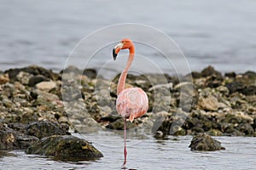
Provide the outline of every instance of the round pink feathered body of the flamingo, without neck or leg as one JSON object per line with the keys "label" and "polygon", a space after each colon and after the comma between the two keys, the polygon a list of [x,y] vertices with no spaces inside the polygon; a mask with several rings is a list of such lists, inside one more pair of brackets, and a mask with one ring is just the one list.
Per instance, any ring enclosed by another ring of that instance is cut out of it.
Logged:
{"label": "round pink feathered body of the flamingo, without neck or leg", "polygon": [[148,96],[142,88],[125,88],[118,96],[116,109],[121,116],[134,118],[148,111]]}

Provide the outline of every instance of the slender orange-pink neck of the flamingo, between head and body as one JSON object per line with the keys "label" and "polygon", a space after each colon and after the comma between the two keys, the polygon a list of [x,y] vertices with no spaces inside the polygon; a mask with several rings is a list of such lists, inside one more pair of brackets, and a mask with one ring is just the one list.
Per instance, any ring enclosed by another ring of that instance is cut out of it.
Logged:
{"label": "slender orange-pink neck of the flamingo, between head and body", "polygon": [[118,87],[117,87],[117,94],[119,95],[119,93],[125,89],[125,80],[129,71],[129,68],[131,66],[132,60],[134,58],[134,53],[135,53],[135,48],[134,45],[131,45],[131,48],[129,48],[130,50],[130,54],[129,54],[129,59],[125,65],[125,70],[122,71],[121,76],[119,77],[119,83],[118,83]]}

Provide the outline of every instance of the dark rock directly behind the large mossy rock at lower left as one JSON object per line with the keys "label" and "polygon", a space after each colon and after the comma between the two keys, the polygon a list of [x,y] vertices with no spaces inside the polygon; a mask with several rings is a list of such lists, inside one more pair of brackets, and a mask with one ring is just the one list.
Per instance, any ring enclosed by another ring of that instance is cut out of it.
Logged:
{"label": "dark rock directly behind the large mossy rock at lower left", "polygon": [[70,134],[67,129],[61,127],[56,122],[32,122],[26,126],[26,133],[28,135],[36,136],[38,139],[42,139],[51,135],[64,135]]}

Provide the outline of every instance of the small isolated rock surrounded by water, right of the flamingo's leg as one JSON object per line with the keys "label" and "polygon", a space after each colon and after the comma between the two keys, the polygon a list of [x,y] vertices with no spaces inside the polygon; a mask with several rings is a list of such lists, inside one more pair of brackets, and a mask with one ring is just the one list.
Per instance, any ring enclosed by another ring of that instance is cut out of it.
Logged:
{"label": "small isolated rock surrounded by water, right of the flamingo's leg", "polygon": [[220,142],[208,134],[198,134],[196,135],[189,145],[191,150],[200,150],[200,151],[215,151],[215,150],[225,150],[221,146]]}

